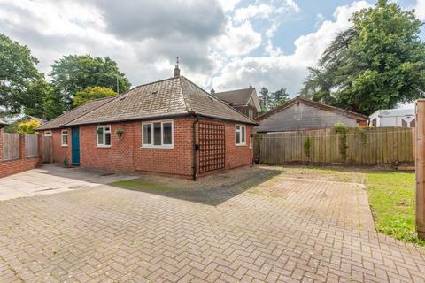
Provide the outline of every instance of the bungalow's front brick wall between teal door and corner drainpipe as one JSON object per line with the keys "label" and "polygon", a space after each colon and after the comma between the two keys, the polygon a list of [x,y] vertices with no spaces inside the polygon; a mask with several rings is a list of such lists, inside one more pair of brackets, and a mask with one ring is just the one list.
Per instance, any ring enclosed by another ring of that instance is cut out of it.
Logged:
{"label": "bungalow's front brick wall between teal door and corner drainpipe", "polygon": [[[146,149],[141,121],[112,124],[111,148],[97,147],[97,126],[81,126],[81,167],[190,176],[191,128],[191,119],[174,119],[174,149]],[[121,138],[115,134],[117,129],[124,130]]]}

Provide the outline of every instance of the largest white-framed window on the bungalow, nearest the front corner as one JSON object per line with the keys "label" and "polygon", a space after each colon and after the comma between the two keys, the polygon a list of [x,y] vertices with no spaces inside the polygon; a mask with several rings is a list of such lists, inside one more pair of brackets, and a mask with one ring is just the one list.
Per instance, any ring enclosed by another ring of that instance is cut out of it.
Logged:
{"label": "largest white-framed window on the bungalow, nearest the front corner", "polygon": [[174,149],[174,121],[161,120],[142,123],[142,147]]}

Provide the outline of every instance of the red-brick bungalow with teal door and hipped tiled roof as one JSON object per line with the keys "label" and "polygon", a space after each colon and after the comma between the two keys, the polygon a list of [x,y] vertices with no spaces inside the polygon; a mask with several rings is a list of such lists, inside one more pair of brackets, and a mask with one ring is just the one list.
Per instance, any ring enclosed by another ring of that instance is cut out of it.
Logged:
{"label": "red-brick bungalow with teal door and hipped tiled roof", "polygon": [[180,76],[97,99],[39,128],[53,160],[196,179],[252,163],[257,123]]}

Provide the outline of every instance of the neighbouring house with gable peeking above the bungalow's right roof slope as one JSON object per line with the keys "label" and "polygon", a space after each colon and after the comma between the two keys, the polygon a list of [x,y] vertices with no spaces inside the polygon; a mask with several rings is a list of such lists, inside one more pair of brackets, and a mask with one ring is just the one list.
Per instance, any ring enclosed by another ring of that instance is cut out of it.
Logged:
{"label": "neighbouring house with gable peeking above the bungalow's right roof slope", "polygon": [[230,106],[240,111],[251,119],[259,116],[261,107],[259,105],[259,96],[255,88],[241,88],[229,91],[215,92],[211,90],[213,96],[219,97]]}

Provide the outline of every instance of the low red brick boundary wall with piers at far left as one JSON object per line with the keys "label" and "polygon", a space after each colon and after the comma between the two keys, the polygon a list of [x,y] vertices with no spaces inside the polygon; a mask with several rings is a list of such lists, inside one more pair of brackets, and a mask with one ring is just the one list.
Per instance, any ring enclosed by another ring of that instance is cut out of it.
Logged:
{"label": "low red brick boundary wall with piers at far left", "polygon": [[20,158],[3,161],[3,130],[0,129],[0,178],[42,166],[42,136],[38,138],[38,157],[25,157],[25,135],[20,135]]}

